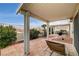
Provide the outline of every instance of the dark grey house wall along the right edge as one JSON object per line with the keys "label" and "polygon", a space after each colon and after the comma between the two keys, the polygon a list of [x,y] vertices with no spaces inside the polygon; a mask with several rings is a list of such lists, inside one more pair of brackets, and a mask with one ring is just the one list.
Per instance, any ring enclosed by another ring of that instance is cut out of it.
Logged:
{"label": "dark grey house wall along the right edge", "polygon": [[79,12],[74,19],[74,45],[79,54]]}

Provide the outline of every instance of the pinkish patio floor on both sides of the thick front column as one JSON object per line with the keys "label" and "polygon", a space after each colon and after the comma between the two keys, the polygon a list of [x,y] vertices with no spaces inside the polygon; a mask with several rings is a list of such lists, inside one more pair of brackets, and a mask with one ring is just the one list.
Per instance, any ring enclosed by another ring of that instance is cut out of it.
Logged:
{"label": "pinkish patio floor on both sides of the thick front column", "polygon": [[[44,37],[30,40],[30,54],[29,56],[49,56],[51,50],[47,48]],[[69,41],[68,41],[69,42]],[[69,42],[70,43],[70,42]],[[18,43],[11,46],[8,46],[1,50],[2,56],[23,56],[24,55],[24,43]],[[54,52],[53,56],[61,56]]]}

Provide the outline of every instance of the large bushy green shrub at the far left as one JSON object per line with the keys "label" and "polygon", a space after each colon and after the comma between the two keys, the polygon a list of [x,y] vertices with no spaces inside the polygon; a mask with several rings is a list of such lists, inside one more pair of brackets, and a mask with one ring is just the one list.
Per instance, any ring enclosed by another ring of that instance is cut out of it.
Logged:
{"label": "large bushy green shrub at the far left", "polygon": [[16,29],[12,26],[0,26],[0,48],[5,48],[16,41]]}

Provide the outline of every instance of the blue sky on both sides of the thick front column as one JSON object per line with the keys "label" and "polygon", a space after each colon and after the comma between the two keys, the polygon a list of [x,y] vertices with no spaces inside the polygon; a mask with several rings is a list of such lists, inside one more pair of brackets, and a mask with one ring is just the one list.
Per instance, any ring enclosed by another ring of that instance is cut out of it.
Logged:
{"label": "blue sky on both sides of the thick front column", "polygon": [[[18,3],[0,3],[0,23],[11,25],[24,25],[23,15],[16,15],[16,10],[20,4]],[[30,17],[30,25],[41,26],[42,21]]]}

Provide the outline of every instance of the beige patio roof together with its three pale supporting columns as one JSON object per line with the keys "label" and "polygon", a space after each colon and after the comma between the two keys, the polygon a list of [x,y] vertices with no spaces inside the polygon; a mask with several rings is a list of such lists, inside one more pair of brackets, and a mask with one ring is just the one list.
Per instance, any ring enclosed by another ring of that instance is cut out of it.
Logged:
{"label": "beige patio roof together with its three pale supporting columns", "polygon": [[[70,37],[72,38],[72,45],[74,45],[73,38],[73,20],[78,12],[79,4],[76,3],[62,3],[62,4],[43,4],[43,3],[23,3],[17,10],[17,13],[24,15],[24,55],[29,54],[29,17],[35,17],[39,20],[45,21],[47,24],[47,38],[49,40],[49,23],[57,20],[70,19]],[[72,22],[71,22],[72,21]],[[31,53],[30,53],[31,54]]]}

